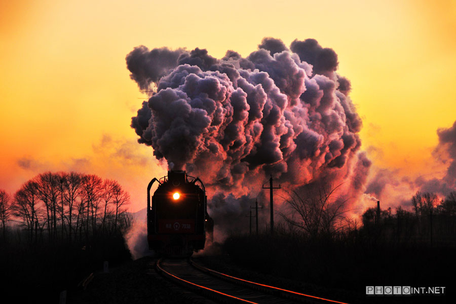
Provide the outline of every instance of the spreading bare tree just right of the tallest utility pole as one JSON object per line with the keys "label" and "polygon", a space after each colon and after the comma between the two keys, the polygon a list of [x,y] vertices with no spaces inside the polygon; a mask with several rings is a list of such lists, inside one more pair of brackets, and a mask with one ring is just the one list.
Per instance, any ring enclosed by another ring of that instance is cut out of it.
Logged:
{"label": "spreading bare tree just right of the tallest utility pole", "polygon": [[282,217],[312,237],[332,236],[342,228],[335,224],[347,212],[348,199],[337,195],[340,186],[321,180],[292,191],[286,199],[290,212]]}

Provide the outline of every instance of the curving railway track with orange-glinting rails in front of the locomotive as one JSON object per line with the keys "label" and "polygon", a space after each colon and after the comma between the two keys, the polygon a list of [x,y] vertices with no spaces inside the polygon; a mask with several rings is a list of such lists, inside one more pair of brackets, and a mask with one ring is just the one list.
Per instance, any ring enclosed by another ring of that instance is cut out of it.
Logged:
{"label": "curving railway track with orange-glinting rails in front of the locomotive", "polygon": [[340,303],[229,276],[192,259],[159,259],[157,271],[168,280],[220,303]]}

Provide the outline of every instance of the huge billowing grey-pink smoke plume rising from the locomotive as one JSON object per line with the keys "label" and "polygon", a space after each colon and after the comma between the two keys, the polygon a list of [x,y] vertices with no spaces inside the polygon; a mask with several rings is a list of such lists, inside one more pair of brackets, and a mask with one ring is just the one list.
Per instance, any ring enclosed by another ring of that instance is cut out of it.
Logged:
{"label": "huge billowing grey-pink smoke plume rising from the locomotive", "polygon": [[138,142],[202,177],[214,209],[221,197],[255,197],[270,174],[289,187],[330,175],[362,193],[362,122],[332,49],[265,38],[246,58],[141,46],[126,59],[138,86],[155,89],[132,118]]}

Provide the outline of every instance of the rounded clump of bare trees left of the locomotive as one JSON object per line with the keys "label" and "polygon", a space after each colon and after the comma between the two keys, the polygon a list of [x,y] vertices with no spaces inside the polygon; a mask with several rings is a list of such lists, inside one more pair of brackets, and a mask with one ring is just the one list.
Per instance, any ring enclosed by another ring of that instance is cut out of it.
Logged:
{"label": "rounded clump of bare trees left of the locomotive", "polygon": [[[5,193],[2,200],[8,201]],[[113,232],[130,224],[125,207],[130,195],[116,181],[94,174],[45,172],[25,182],[10,203],[12,215],[22,219],[30,238],[46,230],[50,240],[89,240],[99,230]],[[5,205],[5,206],[10,206]],[[113,207],[111,207],[113,206]],[[1,207],[1,206],[0,206]],[[10,209],[5,209],[8,219]],[[0,212],[2,212],[0,210]],[[4,226],[6,223],[4,223]]]}

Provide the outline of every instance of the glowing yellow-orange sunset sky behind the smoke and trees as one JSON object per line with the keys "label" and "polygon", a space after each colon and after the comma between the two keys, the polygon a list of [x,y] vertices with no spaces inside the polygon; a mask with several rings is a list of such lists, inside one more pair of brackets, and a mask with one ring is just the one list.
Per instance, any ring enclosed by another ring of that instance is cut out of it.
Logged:
{"label": "glowing yellow-orange sunset sky behind the smoke and trees", "polygon": [[443,174],[432,151],[456,120],[454,1],[0,0],[0,188],[76,170],[119,180],[131,210],[144,208],[166,167],[130,128],[144,95],[125,56],[139,45],[247,56],[265,36],[338,54],[372,172]]}

